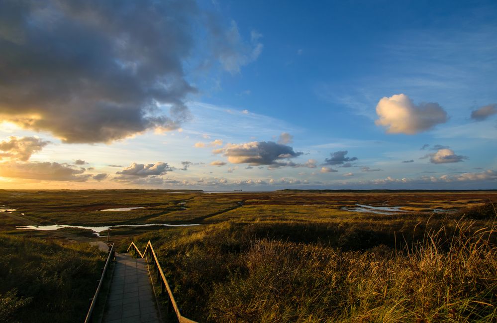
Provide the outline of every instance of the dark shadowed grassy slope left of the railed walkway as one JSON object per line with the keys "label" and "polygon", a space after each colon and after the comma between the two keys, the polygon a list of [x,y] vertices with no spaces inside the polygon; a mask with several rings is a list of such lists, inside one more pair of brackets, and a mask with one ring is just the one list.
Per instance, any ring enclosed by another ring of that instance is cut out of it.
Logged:
{"label": "dark shadowed grassy slope left of the railed walkway", "polygon": [[0,234],[0,322],[84,320],[105,255],[87,244]]}

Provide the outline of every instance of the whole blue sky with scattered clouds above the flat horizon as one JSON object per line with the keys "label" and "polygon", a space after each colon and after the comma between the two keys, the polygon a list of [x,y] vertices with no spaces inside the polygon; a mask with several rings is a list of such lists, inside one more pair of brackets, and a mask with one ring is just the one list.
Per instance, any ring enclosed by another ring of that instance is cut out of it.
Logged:
{"label": "whole blue sky with scattered clouds above the flat horizon", "polygon": [[497,189],[495,1],[0,1],[0,189]]}

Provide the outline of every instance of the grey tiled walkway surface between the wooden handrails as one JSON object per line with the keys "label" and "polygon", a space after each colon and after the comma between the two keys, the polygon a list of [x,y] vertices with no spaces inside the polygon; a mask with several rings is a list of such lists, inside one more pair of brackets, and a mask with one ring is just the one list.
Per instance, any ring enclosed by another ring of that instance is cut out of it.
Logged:
{"label": "grey tiled walkway surface between the wooden handrails", "polygon": [[115,254],[104,323],[161,323],[145,259]]}

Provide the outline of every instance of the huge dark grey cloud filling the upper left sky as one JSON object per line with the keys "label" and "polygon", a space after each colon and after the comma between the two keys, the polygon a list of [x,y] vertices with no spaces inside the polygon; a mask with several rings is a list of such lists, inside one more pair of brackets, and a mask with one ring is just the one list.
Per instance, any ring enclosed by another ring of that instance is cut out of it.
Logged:
{"label": "huge dark grey cloud filling the upper left sky", "polygon": [[179,129],[186,61],[239,73],[263,48],[192,0],[1,1],[0,20],[0,117],[64,143]]}

